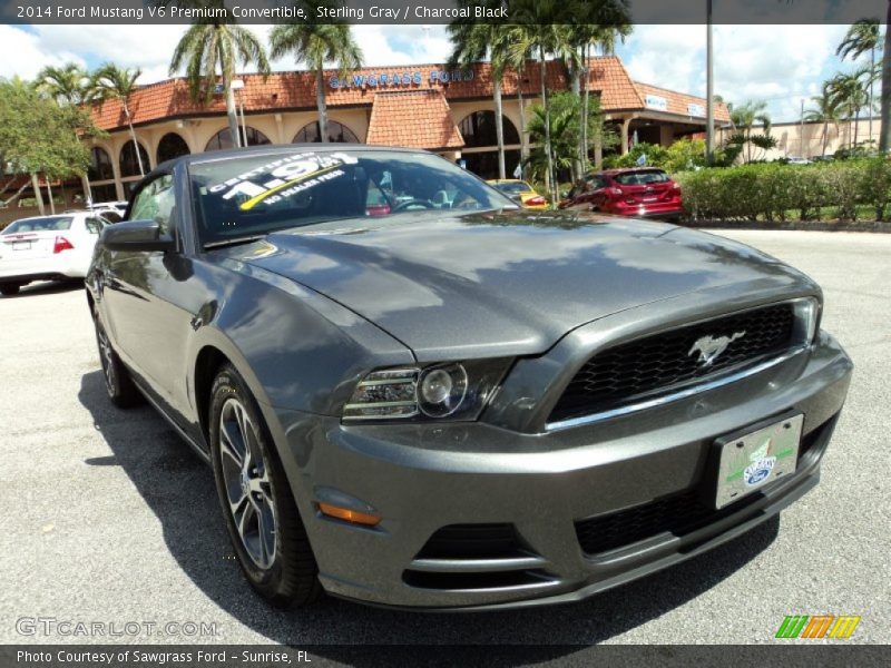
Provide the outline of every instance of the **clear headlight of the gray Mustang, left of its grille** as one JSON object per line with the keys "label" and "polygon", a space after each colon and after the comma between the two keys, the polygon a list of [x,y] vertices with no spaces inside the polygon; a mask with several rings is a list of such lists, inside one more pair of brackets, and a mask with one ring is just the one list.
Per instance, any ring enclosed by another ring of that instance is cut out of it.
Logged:
{"label": "clear headlight of the gray Mustang, left of its grille", "polygon": [[484,360],[372,371],[343,407],[343,420],[476,420],[510,362]]}

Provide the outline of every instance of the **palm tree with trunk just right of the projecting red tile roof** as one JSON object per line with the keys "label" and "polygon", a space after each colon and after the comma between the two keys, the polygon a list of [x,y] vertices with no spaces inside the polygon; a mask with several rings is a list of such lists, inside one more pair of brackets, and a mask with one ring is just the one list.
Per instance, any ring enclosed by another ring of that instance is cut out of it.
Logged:
{"label": "palm tree with trunk just right of the projecting red tile roof", "polygon": [[[500,0],[462,0],[462,6],[491,6]],[[498,141],[498,178],[507,178],[505,168],[505,120],[501,105],[501,87],[505,71],[509,66],[508,48],[512,28],[496,23],[476,23],[468,19],[457,19],[448,27],[452,41],[449,67],[471,66],[488,56],[492,68],[492,99],[495,100],[495,132]]]}

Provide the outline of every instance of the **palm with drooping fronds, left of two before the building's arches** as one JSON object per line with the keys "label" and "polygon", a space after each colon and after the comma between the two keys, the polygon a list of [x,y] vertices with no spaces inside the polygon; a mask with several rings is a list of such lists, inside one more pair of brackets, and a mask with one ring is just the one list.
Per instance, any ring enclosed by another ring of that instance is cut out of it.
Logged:
{"label": "palm with drooping fronds, left of two before the building's arches", "polygon": [[[155,0],[155,4],[166,6],[176,0]],[[224,0],[179,0],[179,7],[196,9],[223,9]],[[170,76],[180,68],[186,68],[189,92],[193,99],[198,99],[204,87],[205,102],[214,97],[217,70],[223,78],[223,92],[226,96],[226,115],[229,121],[229,135],[233,146],[241,146],[238,137],[238,116],[235,111],[235,96],[232,92],[232,81],[238,62],[245,67],[256,66],[260,73],[270,73],[270,61],[266,51],[253,32],[235,23],[231,13],[226,18],[198,19],[176,45],[170,59]]]}

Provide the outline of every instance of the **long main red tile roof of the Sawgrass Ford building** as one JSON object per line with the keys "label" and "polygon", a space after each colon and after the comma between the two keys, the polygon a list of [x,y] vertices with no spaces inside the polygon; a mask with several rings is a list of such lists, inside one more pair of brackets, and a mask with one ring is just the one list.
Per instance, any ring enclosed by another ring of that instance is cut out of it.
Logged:
{"label": "long main red tile roof of the Sawgrass Ford building", "polygon": [[[376,79],[378,86],[350,86],[344,88],[331,88],[330,80],[336,76],[335,71],[326,71],[325,98],[331,107],[350,107],[371,105],[375,96],[381,92],[395,92],[402,90],[418,91],[435,89],[441,90],[447,100],[458,99],[488,99],[492,95],[491,66],[488,62],[474,65],[471,70],[473,77],[467,81],[449,81],[441,84],[430,79],[431,71],[442,72],[446,68],[442,65],[409,65],[399,67],[375,67],[364,68],[356,71],[356,75],[386,75],[388,80],[393,80],[396,75],[400,80],[403,75],[421,72],[421,82],[383,86]],[[644,109],[644,97],[646,92],[642,90],[654,89],[655,87],[638,84],[635,85],[621,61],[616,57],[593,58],[589,68],[590,89],[600,95],[600,105],[604,111]],[[565,89],[568,85],[562,63],[550,60],[546,66],[547,84],[550,90]],[[276,72],[264,79],[260,75],[243,75],[239,77],[245,87],[241,91],[246,112],[263,112],[271,110],[314,110],[315,109],[315,77],[307,71],[297,72]],[[349,77],[352,80],[352,73]],[[505,96],[516,96],[519,77],[516,72],[510,72],[505,77],[502,90]],[[522,91],[523,95],[535,96],[541,90],[541,70],[538,62],[530,61],[523,71]],[[702,98],[694,98],[683,94],[665,91],[670,94],[669,99],[677,98],[679,111],[672,112],[688,116],[686,101],[694,100],[704,104]],[[222,95],[216,95],[208,105],[203,100],[193,101],[188,94],[188,87],[184,79],[168,79],[157,84],[150,84],[136,90],[129,101],[130,114],[135,125],[156,122],[169,118],[182,118],[198,115],[223,115],[226,111],[225,99]],[[114,130],[126,127],[127,119],[124,109],[118,100],[109,100],[101,106],[92,109],[94,121],[105,130]],[[716,118],[723,116],[716,114]]]}

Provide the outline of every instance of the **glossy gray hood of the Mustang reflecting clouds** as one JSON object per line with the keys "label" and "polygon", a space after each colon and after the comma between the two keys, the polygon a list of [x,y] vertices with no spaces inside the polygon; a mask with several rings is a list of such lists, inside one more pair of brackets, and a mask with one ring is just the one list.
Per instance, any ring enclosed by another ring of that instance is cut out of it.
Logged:
{"label": "glossy gray hood of the Mustang reflecting clouds", "polygon": [[228,253],[339,302],[419,361],[537,354],[643,304],[730,283],[802,281],[721,237],[564,212],[339,220]]}

